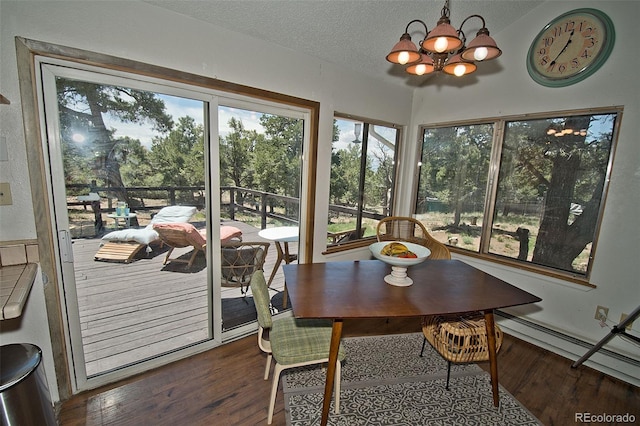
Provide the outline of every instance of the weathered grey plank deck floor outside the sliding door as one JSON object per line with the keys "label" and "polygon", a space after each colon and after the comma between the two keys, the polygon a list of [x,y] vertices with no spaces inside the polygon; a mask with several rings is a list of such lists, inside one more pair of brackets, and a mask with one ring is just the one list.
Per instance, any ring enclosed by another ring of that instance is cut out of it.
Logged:
{"label": "weathered grey plank deck floor outside the sliding door", "polygon": [[[243,241],[266,241],[259,229],[241,222]],[[152,245],[131,263],[94,260],[100,239],[75,239],[76,290],[87,375],[93,376],[205,340],[209,337],[207,268],[203,254],[187,268],[163,265],[167,248]],[[291,244],[292,251],[297,247]],[[174,257],[190,257],[191,249],[175,249]],[[268,279],[277,253],[271,243],[264,270]],[[278,268],[271,285],[274,308],[282,308],[284,276]],[[214,308],[215,315],[215,308]],[[222,288],[223,329],[256,319],[251,292]]]}

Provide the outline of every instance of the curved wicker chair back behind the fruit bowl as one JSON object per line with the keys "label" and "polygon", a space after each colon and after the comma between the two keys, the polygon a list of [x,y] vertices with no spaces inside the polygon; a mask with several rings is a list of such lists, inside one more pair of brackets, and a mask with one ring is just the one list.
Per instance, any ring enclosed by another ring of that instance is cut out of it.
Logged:
{"label": "curved wicker chair back behind the fruit bowl", "polygon": [[447,246],[433,238],[422,222],[412,217],[389,216],[378,222],[378,241],[407,241],[431,250],[429,259],[451,259]]}

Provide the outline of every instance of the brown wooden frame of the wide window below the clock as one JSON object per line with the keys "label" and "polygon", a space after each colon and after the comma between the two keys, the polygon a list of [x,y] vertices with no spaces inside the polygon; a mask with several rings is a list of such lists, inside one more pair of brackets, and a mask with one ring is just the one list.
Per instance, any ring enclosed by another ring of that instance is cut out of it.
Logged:
{"label": "brown wooden frame of the wide window below the clock", "polygon": [[[549,111],[549,112],[538,112],[538,113],[529,113],[529,114],[518,114],[518,115],[509,115],[509,116],[494,116],[487,118],[477,118],[472,120],[461,120],[461,121],[450,121],[450,122],[438,122],[433,124],[421,124],[418,126],[417,133],[417,144],[416,144],[416,164],[420,164],[422,159],[422,145],[424,143],[424,132],[426,129],[435,129],[435,128],[447,128],[447,127],[460,127],[460,126],[470,126],[470,125],[486,125],[493,124],[493,138],[492,138],[492,149],[490,155],[490,163],[489,170],[487,176],[487,187],[485,192],[485,200],[484,200],[484,211],[483,211],[483,227],[481,230],[481,240],[480,246],[477,252],[462,249],[460,247],[453,246],[451,244],[445,243],[447,248],[455,254],[460,254],[468,257],[473,257],[476,259],[485,260],[491,263],[501,264],[505,266],[515,267],[521,270],[533,272],[536,274],[542,274],[545,276],[558,278],[564,281],[570,281],[576,284],[585,285],[588,287],[595,288],[596,286],[590,282],[591,274],[593,272],[593,260],[596,257],[597,253],[597,245],[600,237],[600,229],[602,225],[604,209],[606,207],[607,194],[609,190],[609,182],[611,180],[611,172],[613,168],[613,162],[616,153],[616,147],[618,142],[620,125],[623,117],[624,107],[623,106],[610,106],[610,107],[595,107],[595,108],[585,108],[585,109],[571,109],[571,110],[560,110],[560,111]],[[491,227],[485,226],[485,224],[492,224],[493,217],[496,209],[496,200],[497,200],[497,192],[498,192],[498,176],[500,173],[500,160],[502,157],[502,149],[504,145],[504,138],[507,123],[515,122],[515,121],[532,121],[532,120],[540,120],[540,119],[550,119],[550,118],[558,118],[558,117],[572,117],[572,116],[581,116],[581,115],[602,115],[602,114],[616,114],[616,120],[613,123],[612,127],[612,136],[611,136],[611,147],[609,158],[606,166],[604,185],[602,188],[602,194],[600,196],[600,206],[598,209],[598,219],[594,229],[594,239],[592,242],[592,249],[589,256],[589,264],[587,266],[587,271],[584,275],[572,273],[569,271],[564,271],[560,269],[555,269],[549,266],[538,265],[531,262],[524,262],[518,259],[511,259],[506,256],[501,256],[498,254],[489,252],[489,244],[491,242]],[[418,200],[418,190],[419,190],[419,182],[420,182],[420,170],[421,167],[416,167],[414,176],[413,176],[413,192],[411,199],[411,211],[415,214],[416,203]]]}

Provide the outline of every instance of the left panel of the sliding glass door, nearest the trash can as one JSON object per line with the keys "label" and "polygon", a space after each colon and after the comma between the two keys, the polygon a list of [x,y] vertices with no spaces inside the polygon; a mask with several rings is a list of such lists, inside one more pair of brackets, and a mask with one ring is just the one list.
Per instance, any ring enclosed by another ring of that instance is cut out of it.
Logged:
{"label": "left panel of the sliding glass door, nearest the trash can", "polygon": [[[55,65],[43,64],[41,76],[78,387],[213,340],[217,308],[205,252],[219,246],[219,232],[206,232],[216,213],[205,176],[215,98]],[[156,229],[167,222],[182,242]],[[204,243],[192,243],[191,231]]]}

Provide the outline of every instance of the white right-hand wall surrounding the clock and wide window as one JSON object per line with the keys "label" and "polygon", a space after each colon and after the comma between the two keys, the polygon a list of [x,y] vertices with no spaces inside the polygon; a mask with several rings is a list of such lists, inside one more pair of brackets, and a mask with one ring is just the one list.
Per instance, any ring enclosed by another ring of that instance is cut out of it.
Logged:
{"label": "white right-hand wall surrounding the clock and wide window", "polygon": [[[526,54],[533,38],[546,23],[557,15],[576,8],[592,7],[607,13],[613,20],[616,41],[609,60],[586,80],[564,88],[547,88],[535,83],[526,69]],[[609,307],[611,324],[616,324],[622,312],[630,313],[640,304],[640,85],[637,70],[640,55],[637,50],[637,22],[640,2],[632,1],[548,1],[534,9],[499,34],[492,34],[503,54],[497,59],[499,73],[478,75],[476,81],[464,87],[436,84],[416,90],[411,120],[415,140],[420,124],[450,122],[479,117],[606,107],[623,105],[624,113],[615,153],[611,183],[604,211],[598,247],[593,263],[591,283],[596,288],[547,278],[465,258],[495,276],[529,291],[543,300],[536,306],[513,309],[537,324],[569,336],[595,343],[609,329],[601,328],[594,319],[597,305]],[[478,74],[483,67],[481,64]],[[451,77],[453,78],[453,77]],[[436,107],[437,105],[437,107]],[[640,321],[634,324],[636,335]],[[544,340],[544,338],[541,338]],[[540,343],[539,341],[537,343]],[[559,352],[574,353],[578,358],[584,348],[568,348],[562,343]],[[616,337],[607,349],[639,359],[638,346]],[[597,359],[595,356],[593,359]],[[602,359],[612,365],[615,361]],[[594,365],[602,369],[603,366]],[[616,367],[618,368],[618,367]],[[620,366],[623,377],[638,384],[636,367]]]}

